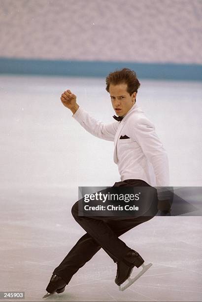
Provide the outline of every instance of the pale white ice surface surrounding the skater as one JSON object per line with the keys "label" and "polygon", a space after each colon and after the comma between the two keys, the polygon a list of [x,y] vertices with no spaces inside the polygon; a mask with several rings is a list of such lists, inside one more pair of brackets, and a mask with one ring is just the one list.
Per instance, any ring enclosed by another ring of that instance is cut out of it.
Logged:
{"label": "pale white ice surface surrounding the skater", "polygon": [[[113,122],[104,81],[0,76],[0,291],[44,301],[54,268],[85,233],[70,213],[78,186],[120,181],[113,142],[87,133],[60,101],[71,89],[85,110]],[[170,185],[201,186],[201,83],[140,83],[136,104],[168,152]],[[116,264],[100,250],[46,300],[202,301],[202,217],[155,217],[120,238],[153,263],[134,285],[119,292]]]}

